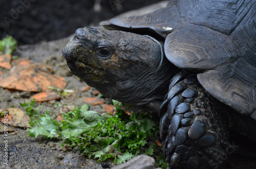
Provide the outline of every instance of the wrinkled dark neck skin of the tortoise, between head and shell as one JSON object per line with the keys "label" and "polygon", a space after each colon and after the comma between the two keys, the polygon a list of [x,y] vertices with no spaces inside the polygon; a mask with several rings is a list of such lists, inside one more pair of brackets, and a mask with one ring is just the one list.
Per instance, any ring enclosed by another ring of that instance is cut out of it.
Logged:
{"label": "wrinkled dark neck skin of the tortoise, between head and shell", "polygon": [[149,38],[158,44],[158,48],[155,49],[158,52],[152,53],[152,61],[147,61],[146,65],[140,67],[137,75],[116,83],[118,92],[114,99],[126,104],[147,104],[151,108],[154,107],[155,111],[159,111],[170,79],[180,70],[165,57],[163,44],[152,37]]}

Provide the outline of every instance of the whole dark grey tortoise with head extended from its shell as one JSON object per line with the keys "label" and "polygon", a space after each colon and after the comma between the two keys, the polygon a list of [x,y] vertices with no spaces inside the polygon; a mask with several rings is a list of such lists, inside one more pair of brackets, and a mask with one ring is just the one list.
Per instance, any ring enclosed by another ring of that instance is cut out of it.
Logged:
{"label": "whole dark grey tortoise with head extended from its shell", "polygon": [[218,168],[231,130],[256,142],[254,1],[171,0],[101,25],[78,29],[63,57],[104,96],[159,113],[170,168]]}

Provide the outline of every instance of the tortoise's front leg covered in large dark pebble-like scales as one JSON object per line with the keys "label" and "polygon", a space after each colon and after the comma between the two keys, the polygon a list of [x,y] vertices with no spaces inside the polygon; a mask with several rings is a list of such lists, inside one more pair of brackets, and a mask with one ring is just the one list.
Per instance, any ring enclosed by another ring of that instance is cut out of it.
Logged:
{"label": "tortoise's front leg covered in large dark pebble-like scales", "polygon": [[196,74],[181,72],[172,79],[160,110],[160,136],[170,168],[218,168],[227,158],[227,121],[219,103]]}

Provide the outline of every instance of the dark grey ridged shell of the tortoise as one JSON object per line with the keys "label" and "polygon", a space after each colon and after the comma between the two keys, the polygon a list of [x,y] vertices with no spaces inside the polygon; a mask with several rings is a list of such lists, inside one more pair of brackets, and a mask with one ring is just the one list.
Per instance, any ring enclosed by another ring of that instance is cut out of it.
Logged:
{"label": "dark grey ridged shell of the tortoise", "polygon": [[103,25],[147,29],[165,38],[170,62],[198,71],[198,80],[212,96],[256,120],[255,1],[170,1],[153,13]]}

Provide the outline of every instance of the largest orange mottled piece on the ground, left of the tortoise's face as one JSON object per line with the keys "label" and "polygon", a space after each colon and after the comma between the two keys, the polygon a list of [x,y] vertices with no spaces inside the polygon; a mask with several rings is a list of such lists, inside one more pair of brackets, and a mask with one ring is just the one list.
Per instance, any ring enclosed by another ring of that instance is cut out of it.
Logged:
{"label": "largest orange mottled piece on the ground, left of the tortoise's face", "polygon": [[27,92],[50,91],[49,86],[64,89],[65,78],[52,75],[51,70],[51,67],[39,63],[17,65],[10,70],[10,74],[1,76],[0,87]]}

